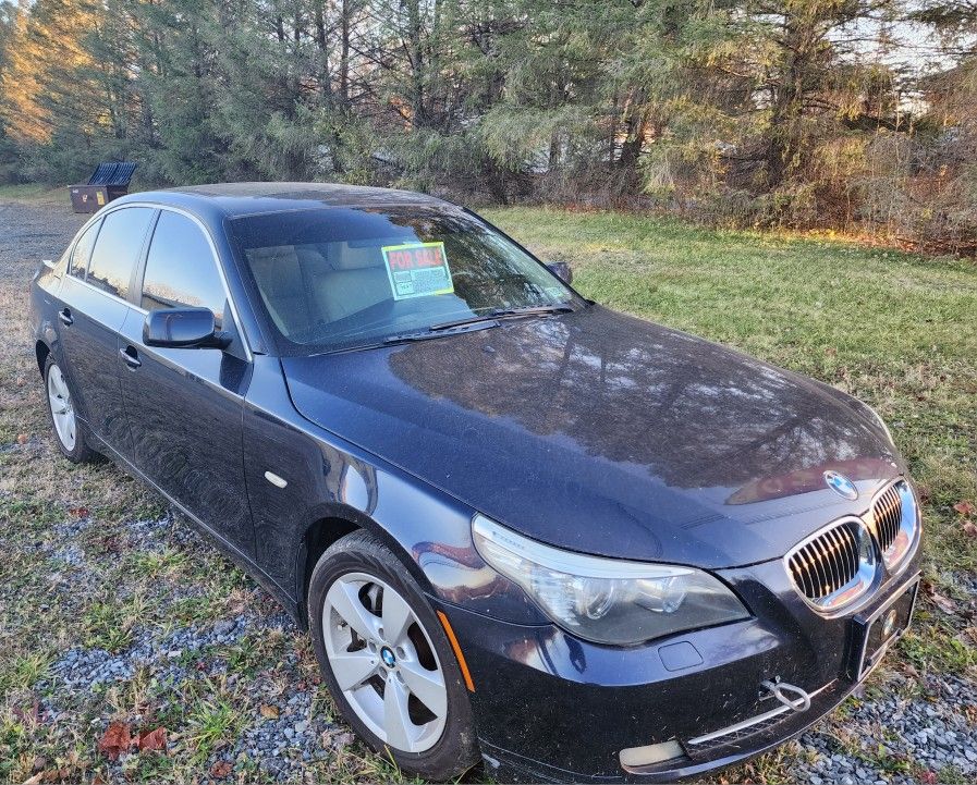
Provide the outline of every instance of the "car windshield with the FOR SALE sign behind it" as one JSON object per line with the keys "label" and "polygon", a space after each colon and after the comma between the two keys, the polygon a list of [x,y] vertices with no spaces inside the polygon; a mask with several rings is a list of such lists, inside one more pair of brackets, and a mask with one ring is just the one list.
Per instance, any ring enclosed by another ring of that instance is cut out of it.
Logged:
{"label": "car windshield with the FOR SALE sign behind it", "polygon": [[451,208],[248,216],[231,233],[284,354],[382,344],[503,310],[576,305],[536,259]]}

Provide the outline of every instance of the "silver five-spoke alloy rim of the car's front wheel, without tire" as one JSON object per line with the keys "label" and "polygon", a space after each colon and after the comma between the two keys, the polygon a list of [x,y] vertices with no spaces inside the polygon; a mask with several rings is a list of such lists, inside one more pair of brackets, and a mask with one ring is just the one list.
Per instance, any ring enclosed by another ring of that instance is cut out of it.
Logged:
{"label": "silver five-spoke alloy rim of the car's front wheel, without tire", "polygon": [[396,750],[433,747],[448,716],[448,689],[407,601],[376,576],[346,573],[326,593],[322,630],[332,673],[359,720]]}

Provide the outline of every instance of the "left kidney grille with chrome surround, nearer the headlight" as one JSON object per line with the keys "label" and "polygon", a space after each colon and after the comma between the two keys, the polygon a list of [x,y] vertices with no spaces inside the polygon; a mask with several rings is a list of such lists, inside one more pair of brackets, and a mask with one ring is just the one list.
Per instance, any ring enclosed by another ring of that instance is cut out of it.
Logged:
{"label": "left kidney grille with chrome surround, nearer the headlight", "polygon": [[876,547],[866,523],[854,515],[833,520],[784,556],[797,593],[814,610],[831,613],[851,605],[876,579]]}

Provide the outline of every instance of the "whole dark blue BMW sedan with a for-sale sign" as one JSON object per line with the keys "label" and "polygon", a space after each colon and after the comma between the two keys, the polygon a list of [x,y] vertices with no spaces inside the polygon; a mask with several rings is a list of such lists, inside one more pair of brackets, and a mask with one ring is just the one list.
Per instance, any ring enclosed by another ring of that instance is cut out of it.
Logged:
{"label": "whole dark blue BMW sedan with a for-sale sign", "polygon": [[234,184],[111,203],[30,302],[64,456],[209,533],[403,770],[698,775],[902,635],[919,506],[866,404],[570,279],[429,196]]}

